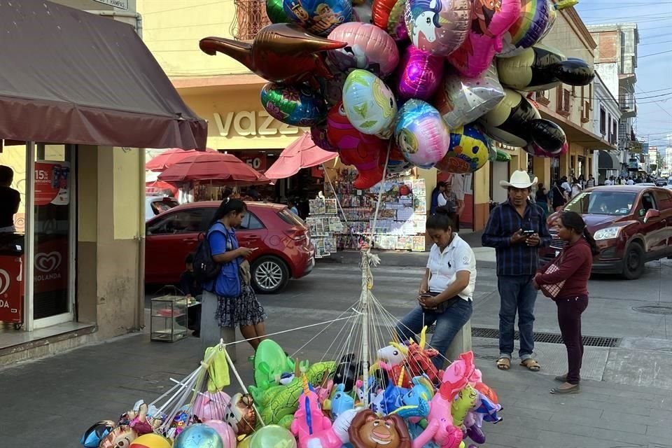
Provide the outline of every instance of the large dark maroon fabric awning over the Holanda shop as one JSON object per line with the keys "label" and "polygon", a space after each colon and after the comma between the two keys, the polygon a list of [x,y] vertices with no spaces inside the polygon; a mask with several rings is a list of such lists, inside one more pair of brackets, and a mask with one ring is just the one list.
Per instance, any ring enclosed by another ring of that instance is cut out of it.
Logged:
{"label": "large dark maroon fabric awning over the Holanda shop", "polygon": [[206,121],[129,25],[48,1],[0,0],[0,30],[0,138],[205,148]]}

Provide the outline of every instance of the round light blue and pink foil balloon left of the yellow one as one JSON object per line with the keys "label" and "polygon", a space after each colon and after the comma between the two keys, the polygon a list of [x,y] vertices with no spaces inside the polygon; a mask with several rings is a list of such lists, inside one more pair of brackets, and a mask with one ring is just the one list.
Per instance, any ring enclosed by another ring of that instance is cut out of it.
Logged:
{"label": "round light blue and pink foil balloon left of the yellow one", "polygon": [[444,158],[450,144],[448,127],[439,111],[419,99],[409,99],[399,111],[394,137],[406,160],[431,168]]}

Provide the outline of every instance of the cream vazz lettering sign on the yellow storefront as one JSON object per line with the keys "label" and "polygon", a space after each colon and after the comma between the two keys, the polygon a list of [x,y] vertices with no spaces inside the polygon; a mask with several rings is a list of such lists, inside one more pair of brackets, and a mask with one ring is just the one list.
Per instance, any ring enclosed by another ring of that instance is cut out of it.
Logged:
{"label": "cream vazz lettering sign on the yellow storefront", "polygon": [[256,135],[294,135],[299,128],[280,123],[267,111],[229,112],[225,116],[214,113],[217,130],[222,137],[233,137],[234,131],[241,137]]}

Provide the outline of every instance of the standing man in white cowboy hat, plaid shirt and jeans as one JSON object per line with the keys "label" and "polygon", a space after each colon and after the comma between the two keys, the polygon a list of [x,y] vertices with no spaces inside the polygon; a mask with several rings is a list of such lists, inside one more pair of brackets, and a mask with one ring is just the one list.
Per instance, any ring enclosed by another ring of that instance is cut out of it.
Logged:
{"label": "standing man in white cowboy hat, plaid shirt and jeans", "polygon": [[497,367],[509,370],[513,352],[514,323],[518,312],[521,365],[533,372],[540,365],[534,352],[534,302],[537,291],[533,279],[538,268],[538,247],[548,246],[548,232],[542,209],[529,200],[531,186],[537,183],[524,171],[514,172],[510,181],[500,181],[509,198],[490,214],[483,231],[483,246],[496,248],[497,283],[500,295],[499,352]]}

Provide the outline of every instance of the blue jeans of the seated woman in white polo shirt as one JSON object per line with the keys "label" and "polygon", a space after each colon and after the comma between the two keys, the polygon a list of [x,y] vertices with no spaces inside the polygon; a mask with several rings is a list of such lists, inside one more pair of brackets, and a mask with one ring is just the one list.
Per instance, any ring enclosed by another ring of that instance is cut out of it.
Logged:
{"label": "blue jeans of the seated woman in white polo shirt", "polygon": [[402,340],[410,339],[418,335],[423,326],[436,323],[431,346],[439,352],[439,355],[432,358],[432,363],[440,370],[445,363],[450,343],[453,342],[457,332],[469,321],[472,311],[471,300],[464,300],[461,297],[454,299],[450,307],[442,313],[417,306],[397,323],[397,334]]}

